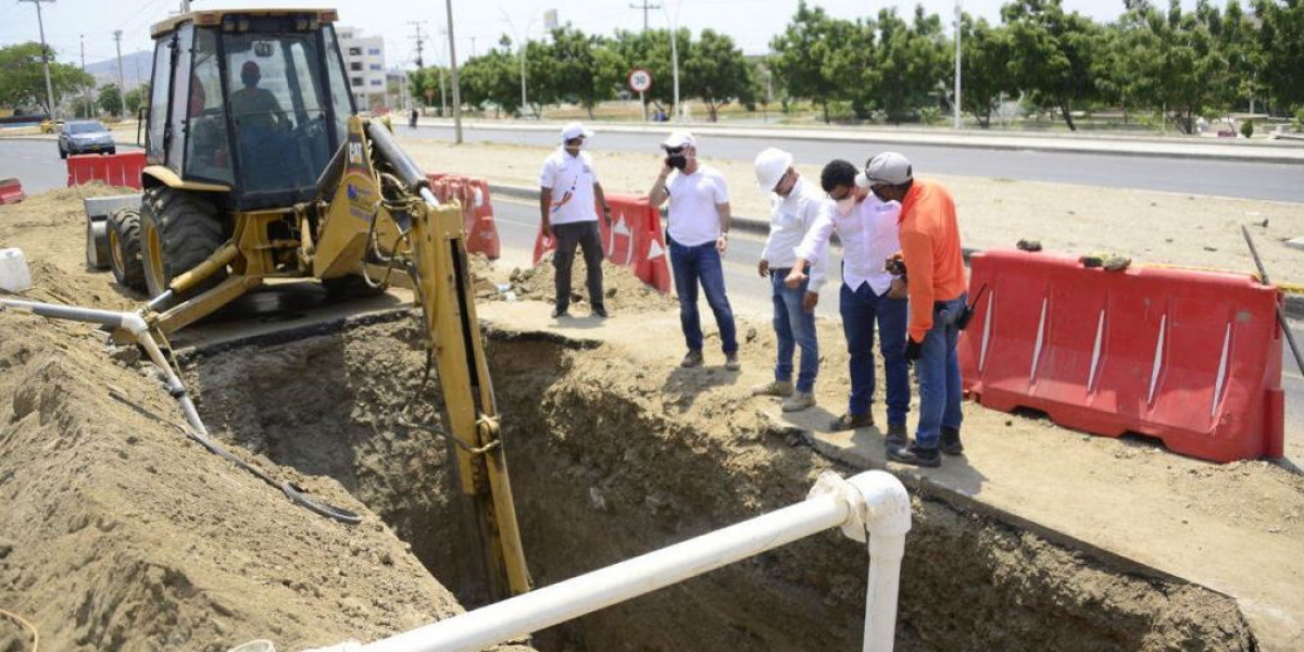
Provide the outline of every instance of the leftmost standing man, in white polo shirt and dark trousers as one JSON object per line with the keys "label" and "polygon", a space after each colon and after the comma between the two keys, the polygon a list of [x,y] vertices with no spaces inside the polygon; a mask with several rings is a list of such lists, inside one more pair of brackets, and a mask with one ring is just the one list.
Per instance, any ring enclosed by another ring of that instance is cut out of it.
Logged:
{"label": "leftmost standing man, in white polo shirt and dark trousers", "polygon": [[539,173],[539,211],[542,216],[544,237],[557,241],[553,267],[557,270],[557,304],[553,318],[569,317],[571,263],[575,249],[584,249],[584,267],[588,271],[588,303],[593,314],[606,317],[602,305],[602,236],[597,230],[597,205],[602,206],[606,223],[612,223],[612,207],[606,205],[602,184],[597,183],[593,160],[580,151],[593,132],[579,123],[562,126],[562,145],[544,159]]}

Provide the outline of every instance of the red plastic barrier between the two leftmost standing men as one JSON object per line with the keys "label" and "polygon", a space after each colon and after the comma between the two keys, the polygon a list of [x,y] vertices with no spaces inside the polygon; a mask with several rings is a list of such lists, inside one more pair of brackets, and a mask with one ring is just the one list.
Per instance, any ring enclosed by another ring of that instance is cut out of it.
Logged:
{"label": "red plastic barrier between the two leftmost standing men", "polygon": [[[606,258],[614,265],[631,267],[635,276],[657,291],[669,292],[670,261],[661,231],[661,213],[648,203],[647,197],[608,194],[606,205],[612,207],[612,224],[597,220]],[[600,206],[597,213],[602,214]],[[554,248],[553,239],[540,230],[535,239],[535,265]]]}

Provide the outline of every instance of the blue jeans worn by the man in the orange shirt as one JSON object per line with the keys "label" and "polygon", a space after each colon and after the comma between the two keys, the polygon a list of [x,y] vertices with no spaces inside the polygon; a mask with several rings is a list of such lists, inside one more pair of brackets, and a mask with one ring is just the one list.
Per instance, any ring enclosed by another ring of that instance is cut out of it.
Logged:
{"label": "blue jeans worn by the man in the orange shirt", "polygon": [[956,343],[960,329],[956,318],[965,308],[968,295],[949,301],[938,301],[932,309],[932,329],[923,336],[923,349],[914,363],[914,376],[919,379],[919,428],[915,443],[922,449],[936,449],[941,428],[960,429],[964,398],[960,383],[960,357]]}

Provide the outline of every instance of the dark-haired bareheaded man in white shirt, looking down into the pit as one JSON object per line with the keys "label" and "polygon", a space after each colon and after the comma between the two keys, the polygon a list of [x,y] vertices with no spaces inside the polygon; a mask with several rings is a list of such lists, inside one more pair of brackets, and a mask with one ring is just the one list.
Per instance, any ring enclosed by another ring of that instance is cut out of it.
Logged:
{"label": "dark-haired bareheaded man in white shirt, looking down into the pit", "polygon": [[[884,267],[900,250],[897,218],[901,205],[883,202],[857,186],[859,170],[846,160],[833,160],[820,173],[820,186],[836,202],[823,211],[797,248],[797,262],[788,274],[788,286],[806,280],[802,266],[825,254],[828,239],[837,231],[842,240],[842,287],[838,312],[850,353],[852,394],[846,413],[835,419],[833,430],[874,425],[870,404],[874,399],[874,327],[879,327],[879,349],[887,376],[887,443],[905,441],[905,416],[910,411],[910,368],[905,360],[908,321],[905,279]],[[811,279],[814,286],[814,279]],[[816,288],[818,292],[818,288]],[[818,300],[818,295],[816,295]],[[811,305],[814,309],[814,304]]]}

